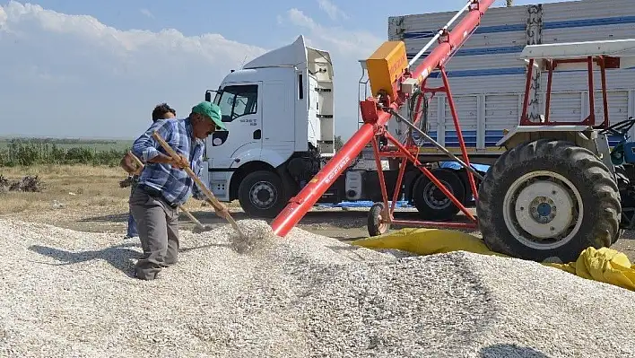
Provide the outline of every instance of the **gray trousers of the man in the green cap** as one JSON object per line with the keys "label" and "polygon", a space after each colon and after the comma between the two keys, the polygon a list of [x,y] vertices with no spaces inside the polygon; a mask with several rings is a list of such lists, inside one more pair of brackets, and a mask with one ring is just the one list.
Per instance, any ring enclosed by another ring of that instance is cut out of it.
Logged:
{"label": "gray trousers of the man in the green cap", "polygon": [[136,187],[130,196],[130,211],[144,249],[144,257],[135,266],[136,277],[153,280],[161,268],[177,263],[178,208]]}

